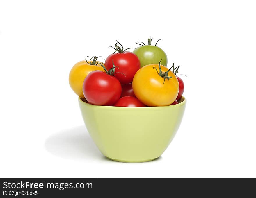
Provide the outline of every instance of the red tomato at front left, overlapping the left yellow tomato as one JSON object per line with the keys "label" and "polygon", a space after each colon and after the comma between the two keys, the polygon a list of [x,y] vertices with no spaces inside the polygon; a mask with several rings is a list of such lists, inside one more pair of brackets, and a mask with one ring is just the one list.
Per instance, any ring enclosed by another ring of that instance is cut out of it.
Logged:
{"label": "red tomato at front left, overlapping the left yellow tomato", "polygon": [[115,67],[109,71],[104,67],[104,70],[106,72],[92,71],[83,81],[83,95],[90,104],[111,106],[121,96],[121,84],[113,76]]}

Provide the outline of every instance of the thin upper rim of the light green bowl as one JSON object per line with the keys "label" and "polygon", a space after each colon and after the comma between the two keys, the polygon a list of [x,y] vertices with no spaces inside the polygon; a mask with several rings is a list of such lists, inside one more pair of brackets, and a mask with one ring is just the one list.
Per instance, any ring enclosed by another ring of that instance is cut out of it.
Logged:
{"label": "thin upper rim of the light green bowl", "polygon": [[81,104],[87,105],[89,107],[95,107],[95,108],[103,108],[103,109],[109,109],[109,108],[115,108],[115,109],[159,109],[159,108],[172,108],[172,107],[179,107],[182,106],[184,104],[186,104],[186,98],[184,96],[182,96],[179,100],[182,100],[182,102],[179,102],[176,105],[168,105],[168,106],[156,106],[156,107],[115,107],[115,106],[103,106],[103,105],[93,105],[93,104],[89,104],[87,102],[84,102],[83,100],[81,100],[81,97],[78,97],[78,101]]}

